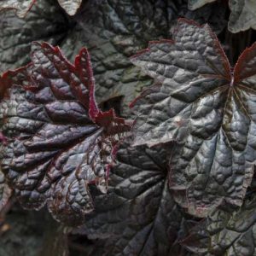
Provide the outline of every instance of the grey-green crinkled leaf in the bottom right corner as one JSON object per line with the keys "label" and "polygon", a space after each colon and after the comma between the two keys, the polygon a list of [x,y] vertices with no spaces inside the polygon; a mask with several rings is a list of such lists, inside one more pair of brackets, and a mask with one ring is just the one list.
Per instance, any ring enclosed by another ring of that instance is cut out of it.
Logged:
{"label": "grey-green crinkled leaf in the bottom right corner", "polygon": [[256,197],[244,202],[240,209],[222,207],[192,232],[183,244],[200,255],[255,255]]}

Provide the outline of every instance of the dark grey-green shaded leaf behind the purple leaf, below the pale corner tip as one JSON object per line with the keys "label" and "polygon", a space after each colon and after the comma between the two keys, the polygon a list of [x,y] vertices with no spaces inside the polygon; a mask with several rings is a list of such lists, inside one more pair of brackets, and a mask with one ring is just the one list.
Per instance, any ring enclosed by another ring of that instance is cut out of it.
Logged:
{"label": "dark grey-green shaded leaf behind the purple leaf, below the pale corner tip", "polygon": [[53,0],[38,0],[24,19],[0,13],[0,73],[28,63],[32,41],[59,44],[67,31],[67,20]]}

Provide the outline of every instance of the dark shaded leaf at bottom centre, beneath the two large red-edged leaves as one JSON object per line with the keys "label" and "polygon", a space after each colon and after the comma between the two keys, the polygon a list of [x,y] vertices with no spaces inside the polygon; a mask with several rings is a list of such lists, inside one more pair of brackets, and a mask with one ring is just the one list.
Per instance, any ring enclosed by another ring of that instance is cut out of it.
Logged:
{"label": "dark shaded leaf at bottom centre, beneath the two large red-edged leaves", "polygon": [[108,195],[96,197],[96,212],[83,227],[91,239],[105,241],[91,255],[185,255],[177,241],[186,219],[168,189],[166,149],[126,141],[117,160]]}

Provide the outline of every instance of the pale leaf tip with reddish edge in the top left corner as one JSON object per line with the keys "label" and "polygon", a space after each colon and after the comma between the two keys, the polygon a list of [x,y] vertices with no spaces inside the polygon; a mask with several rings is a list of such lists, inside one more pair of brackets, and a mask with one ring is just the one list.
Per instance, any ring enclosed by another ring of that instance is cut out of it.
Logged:
{"label": "pale leaf tip with reddish edge in the top left corner", "polygon": [[5,9],[15,9],[16,15],[23,18],[35,2],[36,0],[1,0],[0,11]]}

